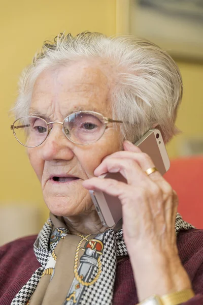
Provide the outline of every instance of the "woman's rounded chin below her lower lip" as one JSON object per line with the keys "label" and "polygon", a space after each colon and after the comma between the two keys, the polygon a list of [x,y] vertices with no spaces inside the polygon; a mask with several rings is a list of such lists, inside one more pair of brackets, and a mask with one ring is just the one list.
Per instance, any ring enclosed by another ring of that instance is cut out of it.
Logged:
{"label": "woman's rounded chin below her lower lip", "polygon": [[[82,195],[82,196],[81,196]],[[46,196],[44,201],[53,215],[61,217],[79,216],[92,210],[92,200],[85,190],[79,196]]]}

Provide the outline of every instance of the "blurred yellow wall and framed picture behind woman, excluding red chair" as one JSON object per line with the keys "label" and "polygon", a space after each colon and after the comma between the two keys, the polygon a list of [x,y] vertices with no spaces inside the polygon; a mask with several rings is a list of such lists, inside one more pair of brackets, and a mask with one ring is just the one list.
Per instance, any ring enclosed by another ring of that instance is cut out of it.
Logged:
{"label": "blurred yellow wall and framed picture behind woman, excluding red chair", "polygon": [[179,65],[184,85],[177,119],[183,133],[167,145],[168,154],[172,160],[203,156],[202,12],[202,0],[1,1],[0,245],[37,234],[48,217],[26,150],[10,130],[14,119],[9,114],[19,75],[43,42],[63,31],[77,35],[88,30],[133,34],[166,49]]}

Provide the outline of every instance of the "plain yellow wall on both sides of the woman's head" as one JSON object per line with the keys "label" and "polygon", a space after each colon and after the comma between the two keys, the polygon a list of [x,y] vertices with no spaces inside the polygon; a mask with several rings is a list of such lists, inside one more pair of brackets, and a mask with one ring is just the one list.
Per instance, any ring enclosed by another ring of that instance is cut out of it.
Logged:
{"label": "plain yellow wall on both sides of the woman's head", "polygon": [[[84,30],[116,33],[116,0],[18,0],[4,2],[0,11],[1,33],[1,192],[0,204],[26,204],[42,208],[42,219],[48,212],[43,203],[40,184],[29,166],[23,146],[10,131],[13,123],[8,112],[17,93],[18,76],[44,40],[59,32],[78,34]],[[203,135],[202,67],[180,63],[184,80],[184,100],[177,125],[185,135]],[[177,156],[177,142],[168,146]]]}

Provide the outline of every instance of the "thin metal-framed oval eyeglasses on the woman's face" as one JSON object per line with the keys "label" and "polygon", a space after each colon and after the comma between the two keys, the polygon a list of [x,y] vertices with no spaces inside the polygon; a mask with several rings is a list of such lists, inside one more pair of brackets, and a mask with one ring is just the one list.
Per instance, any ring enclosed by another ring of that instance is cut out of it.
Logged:
{"label": "thin metal-framed oval eyeglasses on the woman's face", "polygon": [[11,125],[11,130],[20,144],[26,147],[41,145],[50,134],[53,124],[61,124],[65,136],[73,143],[88,145],[98,141],[109,123],[123,123],[104,117],[94,111],[78,111],[66,116],[63,122],[50,122],[39,116],[26,115]]}

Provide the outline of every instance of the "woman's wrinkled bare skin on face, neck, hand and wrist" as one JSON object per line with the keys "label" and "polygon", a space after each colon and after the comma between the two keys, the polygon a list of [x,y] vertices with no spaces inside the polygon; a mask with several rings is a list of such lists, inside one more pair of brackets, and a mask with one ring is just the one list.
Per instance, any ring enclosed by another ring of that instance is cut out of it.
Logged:
{"label": "woman's wrinkled bare skin on face, neck, hand and wrist", "polygon": [[[111,118],[110,93],[114,81],[113,74],[85,60],[69,67],[49,69],[35,83],[31,109],[48,121],[62,121],[71,111],[81,108]],[[145,171],[154,167],[149,156],[127,141],[122,147],[122,142],[119,127],[113,124],[101,139],[87,146],[72,143],[62,133],[61,125],[55,124],[42,145],[28,148],[44,200],[53,214],[64,217],[73,234],[87,234],[105,230],[88,190],[101,190],[118,197],[139,300],[190,288],[176,246],[177,195],[159,172],[146,175]],[[97,177],[107,171],[120,172],[127,184]],[[59,174],[80,179],[53,184],[50,175]]]}

